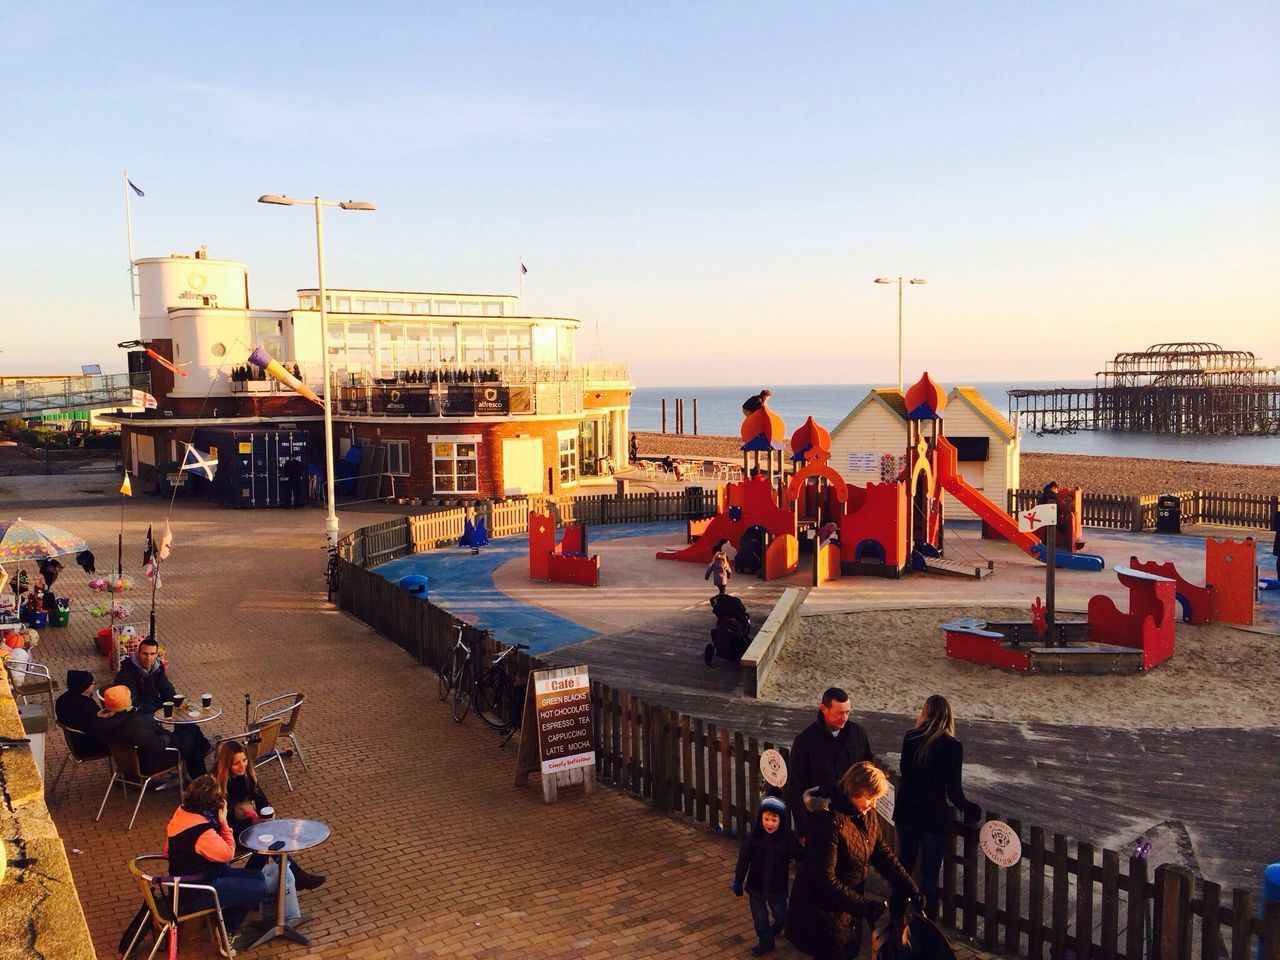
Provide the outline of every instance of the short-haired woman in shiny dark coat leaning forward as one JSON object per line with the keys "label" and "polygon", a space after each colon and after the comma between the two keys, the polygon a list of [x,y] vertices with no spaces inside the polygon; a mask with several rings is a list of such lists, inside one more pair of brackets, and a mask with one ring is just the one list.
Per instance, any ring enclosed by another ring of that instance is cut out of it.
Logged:
{"label": "short-haired woman in shiny dark coat leaning forward", "polygon": [[888,780],[872,763],[855,763],[828,801],[806,794],[810,817],[805,851],[791,887],[787,940],[818,960],[852,960],[863,943],[863,920],[874,924],[887,910],[868,897],[868,867],[887,879],[896,897],[919,904],[920,895],[879,833],[876,800]]}

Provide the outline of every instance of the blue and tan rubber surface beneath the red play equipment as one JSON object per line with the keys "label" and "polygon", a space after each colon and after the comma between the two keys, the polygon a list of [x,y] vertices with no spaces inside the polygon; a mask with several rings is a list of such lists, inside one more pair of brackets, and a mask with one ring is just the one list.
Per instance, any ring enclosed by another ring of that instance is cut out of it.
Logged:
{"label": "blue and tan rubber surface beneath the red play equipment", "polygon": [[[1126,566],[1130,556],[1172,561],[1189,581],[1203,582],[1203,536],[1092,529],[1085,536],[1084,550],[1101,554],[1106,567],[1102,572],[1059,570],[1056,595],[1061,612],[1083,613],[1094,594],[1124,602],[1128,591],[1112,567]],[[530,580],[526,536],[494,540],[479,554],[460,548],[402,557],[379,566],[376,572],[392,581],[408,573],[424,575],[429,579],[434,603],[492,630],[502,641],[529,644],[532,653],[547,653],[704,604],[714,590],[703,579],[703,564],[654,558],[657,550],[684,543],[682,522],[589,527],[588,552],[600,557],[600,586],[594,589]],[[805,600],[804,614],[966,602],[975,607],[1027,607],[1044,594],[1044,566],[1004,540],[980,539],[975,522],[947,524],[946,553],[983,566],[993,561],[995,573],[983,581],[933,575],[901,580],[844,577],[813,590]],[[1275,572],[1270,536],[1260,539],[1257,559],[1263,576]],[[800,568],[773,584],[737,575],[730,591],[750,594],[771,586],[805,586],[810,582],[808,563],[809,557],[801,554]],[[1257,614],[1254,630],[1280,632],[1280,590],[1261,593]]]}

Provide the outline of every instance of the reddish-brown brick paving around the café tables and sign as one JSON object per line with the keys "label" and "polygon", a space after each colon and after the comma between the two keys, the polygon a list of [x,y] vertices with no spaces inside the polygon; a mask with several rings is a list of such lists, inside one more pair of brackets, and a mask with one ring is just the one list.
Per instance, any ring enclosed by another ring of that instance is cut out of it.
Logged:
{"label": "reddish-brown brick paving around the caf\u00e9 tables and sign", "polygon": [[[108,481],[77,483],[97,492]],[[19,494],[31,497],[28,490]],[[14,489],[5,493],[12,502]],[[40,499],[47,498],[45,489]],[[119,506],[88,499],[27,512],[84,536],[101,572],[115,556]],[[125,506],[125,571],[137,580],[146,525],[163,527],[165,513],[166,504],[148,497]],[[385,513],[343,512],[344,529],[378,518]],[[225,713],[209,732],[224,735],[242,728],[246,692],[303,691],[298,732],[310,771],[289,762],[292,794],[270,767],[261,781],[278,815],[333,828],[303,859],[329,877],[302,893],[312,946],[275,941],[250,956],[749,955],[750,916],[730,891],[733,841],[605,787],[591,797],[563,791],[549,806],[536,786],[513,787],[512,746],[499,749],[475,717],[454,724],[435,698],[434,673],[325,603],[319,511],[179,502],[172,525],[157,632],[178,689],[211,691]],[[88,668],[105,686],[108,667],[90,640],[102,621],[86,612],[101,595],[86,580],[68,564],[58,588],[74,600],[72,625],[45,631],[40,654],[55,676]],[[134,604],[132,621],[145,623],[146,593],[136,588],[125,599]],[[64,750],[60,737],[50,737],[51,773]],[[119,792],[101,822],[92,819],[105,781],[104,768],[82,768],[52,813],[99,956],[111,957],[140,904],[125,864],[160,850],[175,795],[147,796],[127,833],[132,799],[125,804]],[[202,929],[187,932],[182,955],[214,955]],[[782,943],[773,956],[797,954]]]}

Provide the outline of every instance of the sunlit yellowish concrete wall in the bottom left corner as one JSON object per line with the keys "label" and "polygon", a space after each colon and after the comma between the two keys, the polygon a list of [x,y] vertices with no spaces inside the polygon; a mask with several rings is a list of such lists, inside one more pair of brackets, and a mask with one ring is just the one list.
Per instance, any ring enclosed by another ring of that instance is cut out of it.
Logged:
{"label": "sunlit yellowish concrete wall in the bottom left corner", "polygon": [[[56,727],[52,727],[56,730]],[[0,684],[0,736],[26,736],[9,685]],[[45,806],[27,746],[0,750],[0,960],[93,960],[61,837]]]}

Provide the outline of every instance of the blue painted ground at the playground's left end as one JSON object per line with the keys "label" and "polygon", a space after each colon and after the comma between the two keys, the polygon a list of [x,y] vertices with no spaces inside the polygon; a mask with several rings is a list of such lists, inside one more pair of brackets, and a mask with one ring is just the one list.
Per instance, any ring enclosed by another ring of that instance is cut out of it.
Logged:
{"label": "blue painted ground at the playground's left end", "polygon": [[[593,526],[588,547],[599,540],[654,535],[669,535],[672,543],[680,543],[685,536],[685,525],[669,522]],[[383,563],[374,572],[392,582],[410,573],[428,577],[430,581],[428,590],[434,603],[448,608],[456,617],[492,630],[503,643],[529,644],[530,653],[547,653],[595,636],[596,631],[513,600],[493,585],[494,571],[517,557],[521,559],[529,557],[527,536],[493,540],[479,554],[472,554],[466,547],[416,553]]]}

